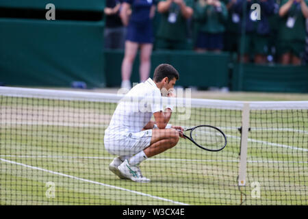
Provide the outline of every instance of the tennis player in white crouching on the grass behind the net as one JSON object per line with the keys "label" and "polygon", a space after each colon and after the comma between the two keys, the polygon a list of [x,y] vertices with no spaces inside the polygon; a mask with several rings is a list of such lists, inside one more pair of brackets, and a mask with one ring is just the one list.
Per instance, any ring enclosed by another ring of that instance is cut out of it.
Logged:
{"label": "tennis player in white crouching on the grass behind the net", "polygon": [[[162,92],[175,86],[179,79],[177,70],[169,64],[160,64],[155,68],[153,80],[147,79],[129,90],[125,97],[162,100]],[[175,94],[168,92],[170,98]],[[141,110],[140,101],[120,101],[105,130],[105,149],[117,155],[109,166],[120,179],[136,182],[149,182],[142,176],[139,164],[171,149],[183,138],[183,128],[169,125],[172,106],[163,109],[162,101],[153,101],[146,105],[149,110]],[[155,121],[151,120],[154,116]],[[177,131],[181,130],[181,131]]]}

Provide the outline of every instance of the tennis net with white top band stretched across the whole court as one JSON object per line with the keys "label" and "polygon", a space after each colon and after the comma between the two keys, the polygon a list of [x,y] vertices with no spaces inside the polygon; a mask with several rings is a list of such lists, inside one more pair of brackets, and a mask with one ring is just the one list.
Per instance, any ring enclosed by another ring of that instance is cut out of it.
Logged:
{"label": "tennis net with white top band stretched across the whole court", "polygon": [[218,127],[227,146],[180,139],[136,183],[110,172],[103,141],[122,97],[0,88],[1,205],[307,205],[308,101],[177,101],[172,125]]}

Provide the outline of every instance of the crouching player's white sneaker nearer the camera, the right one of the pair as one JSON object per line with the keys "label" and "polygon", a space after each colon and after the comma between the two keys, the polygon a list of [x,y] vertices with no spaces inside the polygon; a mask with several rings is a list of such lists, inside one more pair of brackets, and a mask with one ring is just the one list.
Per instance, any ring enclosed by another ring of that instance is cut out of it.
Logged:
{"label": "crouching player's white sneaker nearer the camera, the right one of the pair", "polygon": [[128,159],[118,166],[118,170],[120,173],[132,181],[136,181],[139,183],[149,183],[150,179],[143,177],[139,166],[133,166],[129,164]]}

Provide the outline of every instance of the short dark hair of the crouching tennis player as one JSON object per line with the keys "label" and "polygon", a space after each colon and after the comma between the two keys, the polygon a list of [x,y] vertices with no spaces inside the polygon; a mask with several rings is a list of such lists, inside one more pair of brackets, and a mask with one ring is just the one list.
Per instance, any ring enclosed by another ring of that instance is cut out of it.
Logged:
{"label": "short dark hair of the crouching tennis player", "polygon": [[177,72],[177,69],[170,64],[159,64],[159,66],[155,68],[153,80],[155,82],[160,82],[165,77],[168,77],[168,81],[174,78],[178,80],[179,73]]}

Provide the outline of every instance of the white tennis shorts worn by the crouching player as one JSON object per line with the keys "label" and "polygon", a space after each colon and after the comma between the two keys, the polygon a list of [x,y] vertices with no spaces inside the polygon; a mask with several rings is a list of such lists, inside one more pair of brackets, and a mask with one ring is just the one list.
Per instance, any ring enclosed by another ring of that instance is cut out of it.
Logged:
{"label": "white tennis shorts worn by the crouching player", "polygon": [[120,139],[104,138],[105,149],[112,155],[135,155],[151,144],[152,129],[136,133],[127,133]]}

